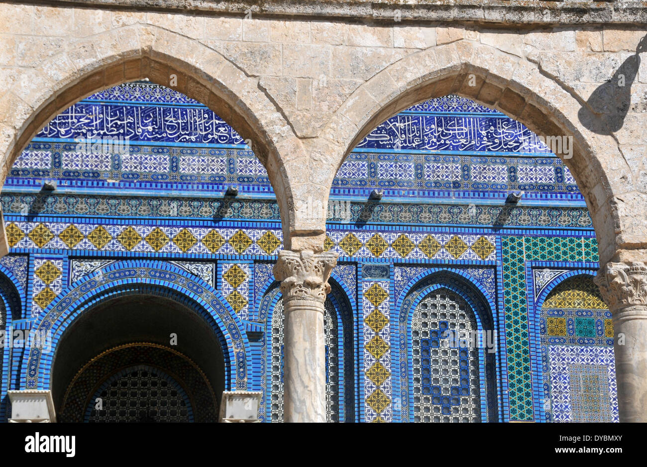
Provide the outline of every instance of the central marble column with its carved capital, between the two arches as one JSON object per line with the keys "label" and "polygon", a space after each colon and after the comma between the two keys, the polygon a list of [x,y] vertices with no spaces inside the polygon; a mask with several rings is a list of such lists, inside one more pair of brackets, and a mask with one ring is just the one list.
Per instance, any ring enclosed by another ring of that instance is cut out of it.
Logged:
{"label": "central marble column with its carved capital, between the two arches", "polygon": [[332,252],[282,250],[274,277],[283,294],[283,420],[325,422],[323,302],[337,262]]}

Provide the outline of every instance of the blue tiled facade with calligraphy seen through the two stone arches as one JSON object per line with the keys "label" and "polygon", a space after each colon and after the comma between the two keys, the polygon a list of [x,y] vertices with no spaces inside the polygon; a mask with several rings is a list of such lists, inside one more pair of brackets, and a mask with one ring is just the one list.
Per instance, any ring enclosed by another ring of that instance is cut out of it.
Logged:
{"label": "blue tiled facade with calligraphy seen through the two stone arches", "polygon": [[[513,190],[521,201],[505,204]],[[56,349],[97,303],[164,296],[217,336],[223,386],[261,391],[259,418],[282,417],[280,210],[215,113],[143,81],[98,92],[28,144],[0,198],[6,331],[49,330]],[[329,420],[618,420],[591,216],[525,126],[458,96],[413,105],[340,166],[327,217],[323,247],[340,255],[325,305]],[[441,347],[460,327],[496,349]],[[53,355],[5,346],[2,394],[52,387]]]}

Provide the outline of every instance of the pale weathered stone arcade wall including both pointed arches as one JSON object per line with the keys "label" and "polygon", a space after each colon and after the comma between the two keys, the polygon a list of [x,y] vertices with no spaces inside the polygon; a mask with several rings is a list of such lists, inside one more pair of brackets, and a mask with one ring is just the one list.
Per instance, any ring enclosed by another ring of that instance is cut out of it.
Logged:
{"label": "pale weathered stone arcade wall including both pointed arches", "polygon": [[[635,50],[647,8],[450,3],[1,3],[0,177],[72,102],[120,81],[166,85],[175,74],[175,89],[252,140],[276,188],[286,248],[322,251],[327,197],[347,151],[408,105],[461,92],[540,135],[573,136],[567,165],[591,210],[600,262],[620,261],[619,252],[644,258],[647,57]],[[319,325],[307,313],[294,311],[293,329]]]}

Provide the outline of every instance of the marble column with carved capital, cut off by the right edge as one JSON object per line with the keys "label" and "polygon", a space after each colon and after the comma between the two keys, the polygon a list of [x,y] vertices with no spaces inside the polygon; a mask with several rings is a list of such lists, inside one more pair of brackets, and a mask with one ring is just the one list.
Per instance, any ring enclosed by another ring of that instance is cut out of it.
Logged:
{"label": "marble column with carved capital, cut off by the right edge", "polygon": [[620,422],[647,422],[647,263],[612,263],[595,283],[613,315]]}

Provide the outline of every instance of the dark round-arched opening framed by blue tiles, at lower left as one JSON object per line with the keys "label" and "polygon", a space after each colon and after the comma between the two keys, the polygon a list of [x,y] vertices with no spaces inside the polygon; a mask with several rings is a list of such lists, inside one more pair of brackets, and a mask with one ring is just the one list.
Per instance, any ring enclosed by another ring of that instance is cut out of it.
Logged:
{"label": "dark round-arched opening framed by blue tiles, at lower left", "polygon": [[169,298],[122,296],[70,325],[51,381],[61,422],[215,422],[225,358],[193,310]]}

